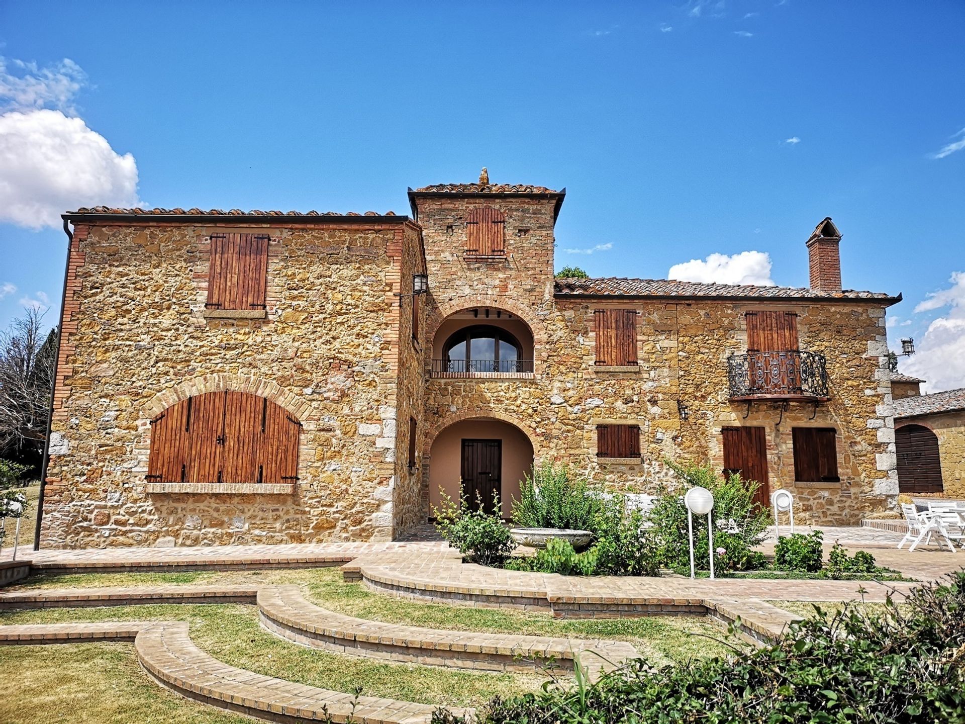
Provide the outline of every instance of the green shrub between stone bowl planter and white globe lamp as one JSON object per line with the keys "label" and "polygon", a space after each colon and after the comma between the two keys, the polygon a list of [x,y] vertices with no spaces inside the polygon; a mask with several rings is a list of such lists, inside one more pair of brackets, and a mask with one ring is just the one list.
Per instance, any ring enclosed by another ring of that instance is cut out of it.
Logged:
{"label": "green shrub between stone bowl planter and white globe lamp", "polygon": [[640,511],[627,511],[622,495],[600,501],[593,519],[597,575],[658,575],[656,539]]}

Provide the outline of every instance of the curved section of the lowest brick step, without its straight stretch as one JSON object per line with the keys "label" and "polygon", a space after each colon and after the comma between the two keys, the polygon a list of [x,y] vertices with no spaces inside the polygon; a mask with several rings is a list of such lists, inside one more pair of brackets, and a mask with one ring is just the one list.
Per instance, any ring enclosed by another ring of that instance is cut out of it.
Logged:
{"label": "curved section of the lowest brick step, without its straight stretch", "polygon": [[134,646],[141,665],[164,686],[221,709],[270,721],[317,721],[327,710],[337,722],[353,717],[364,724],[424,724],[434,709],[372,696],[355,700],[350,694],[229,666],[195,646],[183,622],[147,627]]}

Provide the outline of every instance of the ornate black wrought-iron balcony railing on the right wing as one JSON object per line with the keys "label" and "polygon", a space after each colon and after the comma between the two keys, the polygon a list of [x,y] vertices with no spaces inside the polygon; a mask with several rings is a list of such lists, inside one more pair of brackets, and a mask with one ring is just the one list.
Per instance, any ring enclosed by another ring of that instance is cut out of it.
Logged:
{"label": "ornate black wrought-iron balcony railing on the right wing", "polygon": [[731,400],[828,399],[824,355],[786,349],[748,352],[728,357]]}

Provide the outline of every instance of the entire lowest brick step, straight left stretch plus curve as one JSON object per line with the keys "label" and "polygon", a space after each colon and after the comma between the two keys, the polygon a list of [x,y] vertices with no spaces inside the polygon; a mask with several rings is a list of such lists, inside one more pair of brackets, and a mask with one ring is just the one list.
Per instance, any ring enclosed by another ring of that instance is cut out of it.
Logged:
{"label": "entire lowest brick step, straight left stretch plus curve", "polygon": [[318,721],[327,713],[336,722],[426,724],[435,709],[394,699],[356,698],[229,666],[195,646],[185,622],[0,627],[0,644],[131,640],[138,661],[155,682],[190,699],[268,721]]}

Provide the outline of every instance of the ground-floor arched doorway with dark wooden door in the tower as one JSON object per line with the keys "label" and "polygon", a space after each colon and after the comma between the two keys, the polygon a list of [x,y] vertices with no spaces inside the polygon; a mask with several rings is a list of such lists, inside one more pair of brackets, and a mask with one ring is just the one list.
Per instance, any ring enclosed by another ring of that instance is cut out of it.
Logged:
{"label": "ground-floor arched doorway with dark wooden door in the tower", "polygon": [[491,417],[460,420],[436,435],[429,449],[429,504],[437,508],[445,493],[456,502],[463,496],[488,509],[499,495],[508,518],[519,484],[533,467],[533,443],[514,425]]}

